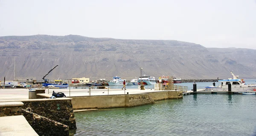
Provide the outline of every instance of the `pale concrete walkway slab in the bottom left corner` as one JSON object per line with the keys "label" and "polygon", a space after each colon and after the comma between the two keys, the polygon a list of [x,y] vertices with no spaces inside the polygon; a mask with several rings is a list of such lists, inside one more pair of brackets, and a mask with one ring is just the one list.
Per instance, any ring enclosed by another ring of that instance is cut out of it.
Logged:
{"label": "pale concrete walkway slab in the bottom left corner", "polygon": [[0,122],[0,136],[38,136],[22,115],[0,117]]}

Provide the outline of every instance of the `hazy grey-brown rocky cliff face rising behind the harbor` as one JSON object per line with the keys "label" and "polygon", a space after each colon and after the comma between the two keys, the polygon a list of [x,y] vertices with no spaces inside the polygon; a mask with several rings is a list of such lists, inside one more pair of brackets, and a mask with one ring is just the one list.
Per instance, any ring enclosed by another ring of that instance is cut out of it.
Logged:
{"label": "hazy grey-brown rocky cliff face rising behind the harbor", "polygon": [[[79,35],[0,37],[0,80],[15,77],[90,80],[121,76],[130,80],[142,73],[158,78],[175,75],[183,79],[231,78],[228,70],[248,79],[256,78],[256,50],[205,48],[199,44],[165,40],[88,38]],[[227,70],[228,69],[228,70]]]}

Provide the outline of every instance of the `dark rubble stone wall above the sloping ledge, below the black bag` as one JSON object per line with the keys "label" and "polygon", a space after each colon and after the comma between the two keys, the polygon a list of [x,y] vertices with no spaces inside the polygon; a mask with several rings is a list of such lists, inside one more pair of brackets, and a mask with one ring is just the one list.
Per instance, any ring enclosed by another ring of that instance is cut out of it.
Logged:
{"label": "dark rubble stone wall above the sloping ledge, below the black bag", "polygon": [[[36,100],[36,99],[33,99]],[[76,129],[73,105],[70,100],[43,99],[41,101],[22,101],[23,109],[30,107],[33,113],[66,124],[70,129]]]}

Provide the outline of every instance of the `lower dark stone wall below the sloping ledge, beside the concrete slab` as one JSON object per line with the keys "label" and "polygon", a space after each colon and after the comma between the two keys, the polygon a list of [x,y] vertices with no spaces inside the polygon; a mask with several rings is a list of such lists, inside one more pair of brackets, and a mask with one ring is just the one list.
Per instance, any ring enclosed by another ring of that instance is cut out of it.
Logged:
{"label": "lower dark stone wall below the sloping ledge, beside the concrete slab", "polygon": [[69,127],[22,109],[22,114],[39,136],[69,136]]}

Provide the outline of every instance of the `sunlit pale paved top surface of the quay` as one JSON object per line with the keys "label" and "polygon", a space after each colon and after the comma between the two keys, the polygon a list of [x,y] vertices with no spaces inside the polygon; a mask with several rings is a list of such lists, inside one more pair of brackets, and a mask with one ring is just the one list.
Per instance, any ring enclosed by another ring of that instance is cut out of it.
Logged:
{"label": "sunlit pale paved top surface of the quay", "polygon": [[[36,88],[35,88],[36,89]],[[42,88],[38,88],[42,89]],[[89,91],[88,88],[86,89],[76,89],[75,87],[70,87],[66,89],[59,89],[59,88],[45,88],[45,93],[52,94],[52,92],[64,93],[67,97],[68,96],[89,96],[89,95],[122,95],[122,94],[142,94],[148,92],[162,92],[165,90],[154,90],[154,89],[91,89]],[[25,88],[8,88],[8,89],[0,89],[0,101],[12,101],[12,100],[21,100],[21,99],[28,99],[29,98],[29,89]]]}

